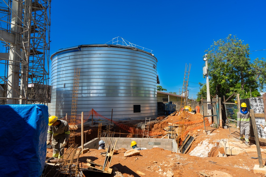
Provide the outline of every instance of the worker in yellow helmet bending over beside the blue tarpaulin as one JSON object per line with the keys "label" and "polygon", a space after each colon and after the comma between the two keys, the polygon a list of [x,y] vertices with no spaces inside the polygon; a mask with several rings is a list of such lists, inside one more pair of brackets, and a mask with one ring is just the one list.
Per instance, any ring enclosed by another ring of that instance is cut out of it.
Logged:
{"label": "worker in yellow helmet bending over beside the blue tarpaulin", "polygon": [[64,146],[67,144],[70,136],[68,123],[65,120],[57,119],[53,115],[49,117],[48,125],[46,144],[50,144],[52,139],[53,157],[61,158],[64,154]]}

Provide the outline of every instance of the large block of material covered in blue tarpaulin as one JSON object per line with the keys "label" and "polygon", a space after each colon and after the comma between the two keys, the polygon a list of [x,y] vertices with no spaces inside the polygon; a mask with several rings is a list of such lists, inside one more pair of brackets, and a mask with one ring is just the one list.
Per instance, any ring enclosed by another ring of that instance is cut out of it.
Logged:
{"label": "large block of material covered in blue tarpaulin", "polygon": [[0,176],[41,176],[46,158],[48,107],[0,105]]}

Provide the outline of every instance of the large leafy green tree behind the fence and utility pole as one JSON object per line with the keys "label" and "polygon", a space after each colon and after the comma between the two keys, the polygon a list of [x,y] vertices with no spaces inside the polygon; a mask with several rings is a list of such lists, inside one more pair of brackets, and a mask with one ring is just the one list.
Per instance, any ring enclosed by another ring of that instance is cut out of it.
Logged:
{"label": "large leafy green tree behind the fence and utility pole", "polygon": [[[250,98],[259,96],[258,88],[266,83],[266,61],[257,58],[251,61],[249,45],[243,44],[236,36],[214,41],[208,50],[205,50],[208,61],[210,94],[235,98]],[[200,85],[197,100],[206,99],[206,84]]]}

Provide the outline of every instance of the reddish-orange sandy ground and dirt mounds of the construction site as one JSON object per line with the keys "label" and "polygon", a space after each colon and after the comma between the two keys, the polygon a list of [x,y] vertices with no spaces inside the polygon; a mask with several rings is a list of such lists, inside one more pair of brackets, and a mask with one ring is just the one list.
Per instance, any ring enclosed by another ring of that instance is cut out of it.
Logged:
{"label": "reddish-orange sandy ground and dirt mounds of the construction site", "polygon": [[[185,118],[185,119],[183,119]],[[171,116],[167,120],[159,123],[154,123],[150,126],[153,132],[163,132],[162,128],[168,125],[168,122],[172,123],[176,120],[186,121],[200,121],[202,115],[179,115]],[[199,127],[202,123],[194,123],[193,125],[185,126],[185,129],[191,129],[191,127]],[[186,154],[173,153],[161,148],[152,148],[147,150],[141,150],[137,156],[124,158],[124,152],[126,149],[119,149],[117,154],[113,155],[110,168],[116,169],[120,172],[118,174],[102,174],[99,172],[89,172],[85,176],[125,176],[125,177],[137,177],[137,176],[203,176],[200,173],[204,172],[209,176],[265,176],[262,173],[253,172],[254,165],[259,165],[256,151],[256,145],[251,143],[251,147],[247,148],[245,145],[240,144],[240,141],[230,135],[228,129],[218,128],[210,134],[203,132],[204,127],[201,129],[193,129],[189,132],[191,136],[194,135],[195,141],[192,143]],[[227,141],[231,146],[238,146],[244,150],[244,152],[228,157],[216,157],[218,151],[224,153],[224,149],[219,147],[220,141]],[[265,148],[265,147],[261,147]],[[66,150],[66,149],[65,149]],[[87,168],[87,159],[92,160],[94,163],[103,165],[105,156],[100,153],[104,150],[90,149],[88,153],[81,154],[79,158],[80,167]],[[191,154],[191,155],[189,155]],[[193,156],[192,156],[193,155]],[[265,165],[266,154],[261,152],[263,158],[263,165]],[[47,149],[47,157],[52,157],[52,149]],[[253,158],[251,158],[253,157]],[[216,162],[216,163],[214,163]],[[138,174],[139,172],[144,173]]]}

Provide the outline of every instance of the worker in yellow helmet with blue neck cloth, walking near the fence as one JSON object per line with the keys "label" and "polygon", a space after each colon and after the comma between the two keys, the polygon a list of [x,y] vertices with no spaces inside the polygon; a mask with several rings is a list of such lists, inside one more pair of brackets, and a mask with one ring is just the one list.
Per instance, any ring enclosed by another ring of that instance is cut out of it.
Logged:
{"label": "worker in yellow helmet with blue neck cloth, walking near the fence", "polygon": [[[237,127],[240,130],[241,144],[246,143],[246,146],[250,147],[249,134],[250,134],[250,113],[248,112],[246,103],[242,103],[240,111],[237,113]],[[245,133],[245,140],[243,135]]]}

